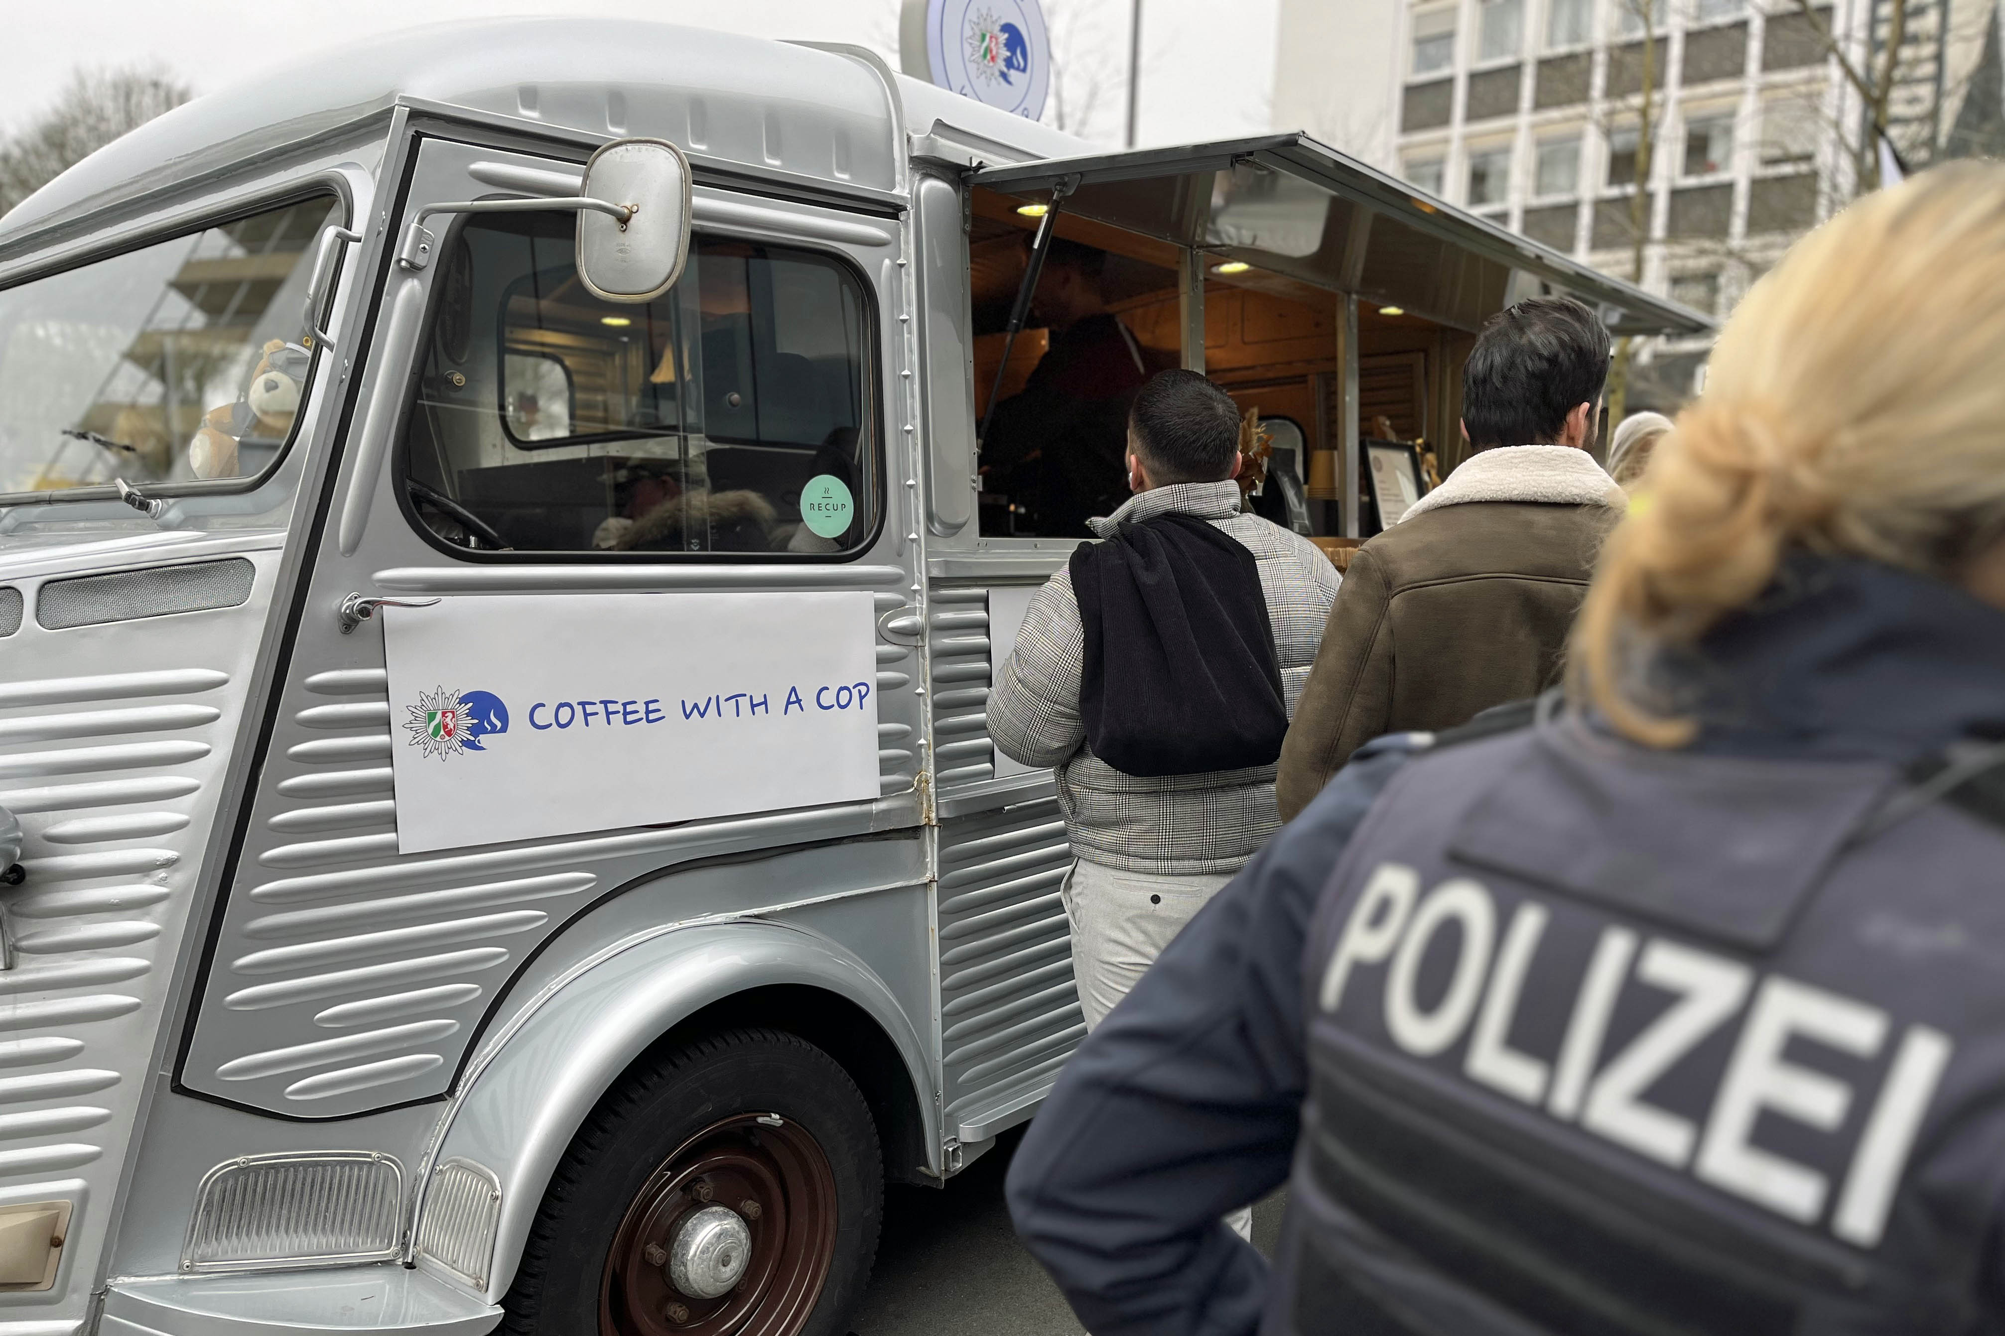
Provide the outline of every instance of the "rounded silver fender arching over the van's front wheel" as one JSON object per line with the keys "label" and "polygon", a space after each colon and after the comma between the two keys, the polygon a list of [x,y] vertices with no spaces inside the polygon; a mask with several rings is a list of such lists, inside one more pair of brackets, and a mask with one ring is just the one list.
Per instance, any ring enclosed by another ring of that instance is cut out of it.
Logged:
{"label": "rounded silver fender arching over the van's front wheel", "polygon": [[[846,947],[800,927],[730,921],[678,927],[597,959],[531,1004],[467,1074],[433,1138],[413,1210],[423,1254],[433,1166],[471,1162],[499,1190],[483,1298],[515,1280],[549,1176],[599,1098],[664,1032],[700,1008],[768,985],[808,985],[862,1008],[892,1040],[918,1096],[926,1146],[938,1148],[938,1104],[924,1050],[890,987]],[[938,1166],[934,1166],[938,1168]],[[463,1230],[467,1214],[441,1206]],[[451,1250],[471,1256],[465,1242]],[[461,1276],[467,1280],[467,1276]]]}

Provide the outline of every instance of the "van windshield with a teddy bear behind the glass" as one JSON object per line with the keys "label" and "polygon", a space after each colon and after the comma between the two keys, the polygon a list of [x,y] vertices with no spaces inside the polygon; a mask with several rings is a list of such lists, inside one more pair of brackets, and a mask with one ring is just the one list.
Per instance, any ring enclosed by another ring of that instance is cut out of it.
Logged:
{"label": "van windshield with a teddy bear behind the glass", "polygon": [[317,198],[0,292],[0,493],[255,477],[313,367]]}

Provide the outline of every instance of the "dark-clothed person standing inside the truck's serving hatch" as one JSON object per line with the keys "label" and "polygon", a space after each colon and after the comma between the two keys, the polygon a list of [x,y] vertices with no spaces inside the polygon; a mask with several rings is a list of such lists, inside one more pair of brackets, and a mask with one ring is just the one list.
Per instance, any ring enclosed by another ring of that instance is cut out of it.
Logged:
{"label": "dark-clothed person standing inside the truck's serving hatch", "polygon": [[1085,539],[1127,501],[1127,415],[1153,369],[1107,308],[1105,270],[1105,250],[1051,240],[1031,306],[1051,345],[982,441],[982,487],[1023,507],[1019,533]]}

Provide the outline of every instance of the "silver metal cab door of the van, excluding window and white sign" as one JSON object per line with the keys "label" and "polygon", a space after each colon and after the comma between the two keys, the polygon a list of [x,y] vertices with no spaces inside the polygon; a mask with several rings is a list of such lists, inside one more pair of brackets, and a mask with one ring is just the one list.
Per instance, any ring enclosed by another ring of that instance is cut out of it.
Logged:
{"label": "silver metal cab door of the van, excluding window and white sign", "polygon": [[[485,164],[561,168],[551,158],[485,144],[425,140],[411,176],[411,202],[467,198]],[[732,202],[700,188],[700,200]],[[886,471],[904,477],[910,447],[898,425],[904,322],[900,270],[892,262],[900,224],[792,200],[762,200],[760,214],[842,222],[888,244],[818,248],[848,258],[878,304],[878,403]],[[724,234],[758,226],[704,224]],[[798,242],[812,244],[812,242]],[[439,266],[397,270],[395,288],[421,284],[425,300]],[[333,615],[347,593],[539,593],[591,597],[646,589],[864,589],[878,611],[910,599],[916,549],[912,489],[886,489],[886,517],[872,551],[848,563],[626,565],[589,557],[513,565],[465,561],[427,543],[399,507],[395,423],[413,375],[407,339],[385,312],[351,447],[389,433],[385,451],[351,449],[341,461],[321,551],[285,667],[265,773],[223,905],[194,1034],[178,1080],[233,1104],[287,1118],[343,1118],[443,1096],[461,1068],[479,1018],[539,943],[616,887],[688,857],[830,839],[886,823],[916,825],[916,801],[758,813],[674,829],[634,829],[555,841],[523,841],[399,855],[387,775],[393,743],[379,621],[343,635]],[[401,349],[387,349],[399,343]],[[353,545],[353,553],[343,549]],[[525,635],[533,627],[525,627]],[[878,643],[880,773],[886,799],[916,791],[924,687],[910,647]],[[409,1012],[413,989],[435,1006]],[[383,1016],[371,1006],[381,1004]],[[333,1048],[329,1048],[333,1042]],[[321,1048],[315,1048],[321,1046]],[[343,1048],[341,1054],[335,1048]],[[349,1052],[353,1048],[353,1052]],[[305,1064],[305,1066],[303,1066]]]}

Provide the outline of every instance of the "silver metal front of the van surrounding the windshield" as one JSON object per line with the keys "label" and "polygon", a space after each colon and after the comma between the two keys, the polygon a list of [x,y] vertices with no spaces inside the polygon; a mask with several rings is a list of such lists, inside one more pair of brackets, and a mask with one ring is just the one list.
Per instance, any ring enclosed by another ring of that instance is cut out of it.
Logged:
{"label": "silver metal front of the van surrounding the windshield", "polygon": [[[8,266],[0,282],[182,234],[313,190],[339,196],[341,218],[365,214],[375,202],[369,164],[381,162],[381,140],[349,138],[283,168],[211,180],[200,198],[134,212],[96,228],[86,240],[28,256]],[[357,280],[359,270],[361,262],[351,254],[331,294],[335,326],[359,322],[367,310],[371,284]],[[76,1160],[74,1170],[36,1166],[32,1160],[48,1148],[0,1168],[0,1202],[64,1196],[76,1202],[54,1288],[8,1294],[4,1312],[14,1320],[0,1322],[0,1332],[30,1330],[20,1322],[84,1324],[90,1296],[110,1268],[116,1236],[130,1220],[126,1202],[134,1166],[158,1100],[150,1074],[160,1070],[184,1012],[186,963],[200,951],[207,905],[229,849],[231,813],[257,743],[259,701],[283,627],[283,617],[273,613],[289,601],[299,569],[299,543],[291,535],[311,523],[313,507],[297,501],[317,495],[349,371],[341,359],[323,359],[301,407],[293,445],[277,469],[255,485],[188,489],[168,503],[158,521],[116,501],[30,503],[0,511],[0,583],[22,589],[28,609],[20,629],[6,639],[8,683],[48,683],[38,703],[22,701],[6,713],[24,719],[86,713],[100,715],[104,723],[70,733],[82,745],[24,737],[20,745],[6,745],[8,755],[0,759],[8,769],[8,779],[0,783],[6,799],[0,801],[22,809],[30,831],[28,853],[42,861],[40,869],[30,869],[28,883],[8,891],[6,927],[16,939],[38,935],[38,951],[26,953],[20,963],[52,965],[40,979],[18,967],[10,977],[0,975],[12,999],[28,1004],[18,1012],[20,1026],[4,1038],[44,1046],[82,1044],[72,1058],[58,1056],[54,1062],[60,1066],[32,1064],[10,1076],[28,1076],[18,1094],[38,1094],[40,1106],[104,1114],[94,1116],[90,1128],[64,1132],[50,1124],[40,1134],[44,1142],[76,1148],[68,1152]],[[134,607],[130,619],[102,625],[60,631],[40,625],[38,587],[50,579],[152,573],[233,559],[255,567],[249,599],[241,605],[162,617]],[[88,679],[106,673],[130,679],[132,689],[108,693],[90,685]],[[178,679],[184,679],[182,689],[170,689]],[[62,699],[70,687],[76,703]],[[120,709],[158,707],[215,717],[203,723],[190,713],[184,727],[164,731],[112,727]],[[136,751],[128,757],[112,755],[132,747]],[[82,763],[92,749],[104,751],[102,765]],[[100,785],[104,791],[96,791]],[[86,787],[102,803],[64,801],[64,789],[86,797]],[[24,797],[22,789],[42,793]],[[174,825],[176,819],[182,823]],[[152,865],[134,867],[146,851],[156,851]],[[90,1020],[84,1016],[88,1008],[104,1016]],[[72,1020],[66,1022],[66,1014],[74,1014]],[[84,1080],[64,1072],[116,1072],[118,1080],[106,1090],[64,1096],[64,1080]],[[46,1088],[36,1092],[40,1086]]]}

